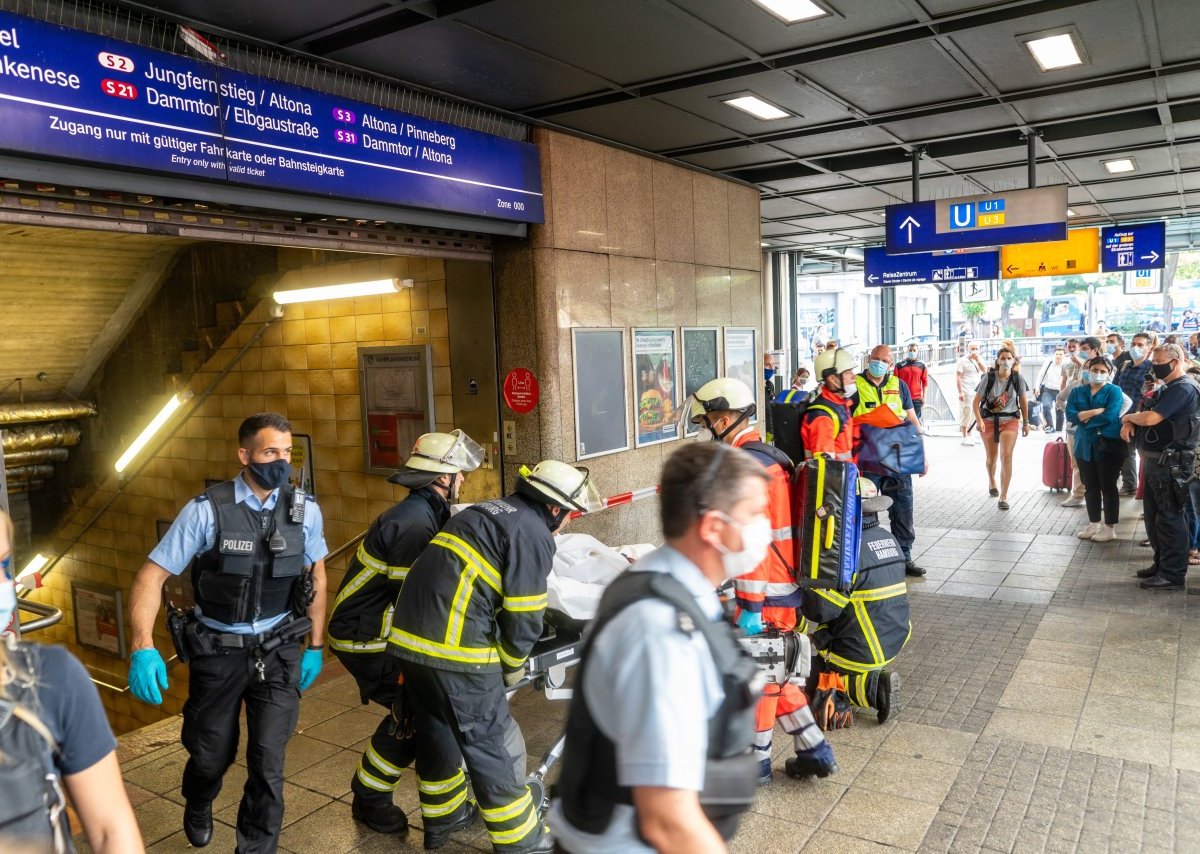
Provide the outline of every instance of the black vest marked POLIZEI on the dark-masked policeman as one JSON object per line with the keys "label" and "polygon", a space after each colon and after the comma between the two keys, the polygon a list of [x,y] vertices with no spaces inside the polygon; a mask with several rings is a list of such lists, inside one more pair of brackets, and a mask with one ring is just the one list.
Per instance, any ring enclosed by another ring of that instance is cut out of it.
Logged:
{"label": "black vest marked POLIZEI on the dark-masked policeman", "polygon": [[[212,548],[197,555],[192,567],[192,589],[204,615],[233,625],[289,611],[304,569],[304,522],[292,521],[292,505],[307,499],[284,486],[274,510],[257,511],[236,503],[233,481],[224,481],[196,500],[211,501],[216,517]],[[283,539],[278,552],[270,548],[275,533]]]}

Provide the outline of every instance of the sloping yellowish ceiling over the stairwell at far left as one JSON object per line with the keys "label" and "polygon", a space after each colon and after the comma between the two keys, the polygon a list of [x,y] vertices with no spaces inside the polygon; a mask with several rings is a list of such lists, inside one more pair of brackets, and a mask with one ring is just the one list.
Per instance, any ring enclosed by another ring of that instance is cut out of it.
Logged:
{"label": "sloping yellowish ceiling over the stairwell at far left", "polygon": [[144,234],[0,225],[0,399],[82,392],[184,243]]}

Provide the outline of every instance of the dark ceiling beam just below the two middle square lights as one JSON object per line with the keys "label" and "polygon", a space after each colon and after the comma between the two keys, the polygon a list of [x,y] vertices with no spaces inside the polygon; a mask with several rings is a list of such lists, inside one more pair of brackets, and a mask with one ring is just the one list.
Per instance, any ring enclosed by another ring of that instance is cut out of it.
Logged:
{"label": "dark ceiling beam just below the two middle square lights", "polygon": [[781,143],[792,139],[804,139],[805,137],[816,137],[827,133],[839,133],[841,131],[857,130],[863,127],[877,127],[880,125],[890,125],[893,122],[899,122],[899,121],[930,119],[934,116],[949,115],[952,113],[978,109],[980,107],[1018,104],[1024,101],[1033,101],[1036,98],[1051,97],[1056,95],[1072,95],[1075,92],[1086,92],[1094,89],[1104,89],[1105,86],[1120,85],[1123,83],[1157,80],[1162,79],[1163,77],[1170,77],[1174,74],[1186,74],[1196,71],[1200,71],[1200,60],[1189,60],[1186,62],[1174,62],[1171,65],[1165,65],[1162,68],[1141,68],[1138,71],[1128,71],[1118,74],[1105,74],[1104,77],[1096,77],[1087,80],[1080,80],[1078,83],[1066,83],[1052,86],[1038,86],[1036,89],[1026,89],[1015,92],[1007,92],[998,97],[994,97],[990,95],[980,95],[977,97],[961,98],[958,101],[948,101],[938,104],[912,107],[910,109],[893,110],[889,113],[877,113],[864,119],[839,119],[838,121],[827,121],[821,125],[809,125],[806,127],[796,127],[786,131],[758,133],[740,139],[722,139],[720,142],[706,143],[703,145],[688,145],[678,149],[667,149],[662,151],[656,151],[655,154],[662,155],[664,157],[686,157],[688,155],[710,154],[714,151],[728,151],[731,149],[746,148],[748,145],[769,145],[772,143]]}

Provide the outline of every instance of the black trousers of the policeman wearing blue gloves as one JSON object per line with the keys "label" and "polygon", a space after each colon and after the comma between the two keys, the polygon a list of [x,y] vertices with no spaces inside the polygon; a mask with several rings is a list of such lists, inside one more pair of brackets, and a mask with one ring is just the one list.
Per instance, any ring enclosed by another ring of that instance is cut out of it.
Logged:
{"label": "black trousers of the policeman wearing blue gloves", "polygon": [[283,823],[283,753],[300,712],[299,643],[262,658],[251,650],[192,658],[184,704],[184,798],[206,804],[221,792],[238,756],[239,716],[246,705],[246,787],[238,807],[239,854],[274,854]]}

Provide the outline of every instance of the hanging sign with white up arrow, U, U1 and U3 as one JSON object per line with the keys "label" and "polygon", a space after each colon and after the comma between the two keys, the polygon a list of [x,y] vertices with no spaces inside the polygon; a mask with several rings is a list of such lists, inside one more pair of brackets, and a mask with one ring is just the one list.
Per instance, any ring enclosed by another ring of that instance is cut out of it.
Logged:
{"label": "hanging sign with white up arrow, U, U1 and U3", "polygon": [[884,208],[889,255],[1067,239],[1067,186]]}

